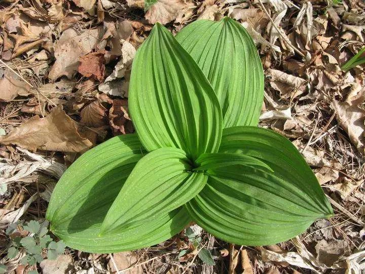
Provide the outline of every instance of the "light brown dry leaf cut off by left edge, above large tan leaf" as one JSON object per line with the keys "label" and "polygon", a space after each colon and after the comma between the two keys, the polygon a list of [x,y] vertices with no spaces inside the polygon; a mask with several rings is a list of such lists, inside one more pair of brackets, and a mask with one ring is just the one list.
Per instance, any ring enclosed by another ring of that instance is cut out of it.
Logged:
{"label": "light brown dry leaf cut off by left edge, above large tan leaf", "polygon": [[27,96],[30,93],[30,86],[11,70],[0,72],[0,75],[0,101],[10,101],[18,95]]}

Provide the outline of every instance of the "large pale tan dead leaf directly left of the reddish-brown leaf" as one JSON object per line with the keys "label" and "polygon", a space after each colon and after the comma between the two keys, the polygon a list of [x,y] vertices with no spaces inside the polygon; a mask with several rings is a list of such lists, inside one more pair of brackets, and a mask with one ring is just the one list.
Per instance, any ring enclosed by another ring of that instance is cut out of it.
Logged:
{"label": "large pale tan dead leaf directly left of the reddish-brown leaf", "polygon": [[78,71],[79,57],[91,52],[99,36],[99,28],[88,29],[79,33],[72,28],[63,31],[55,46],[56,61],[51,67],[48,78],[57,80],[60,76],[71,79]]}

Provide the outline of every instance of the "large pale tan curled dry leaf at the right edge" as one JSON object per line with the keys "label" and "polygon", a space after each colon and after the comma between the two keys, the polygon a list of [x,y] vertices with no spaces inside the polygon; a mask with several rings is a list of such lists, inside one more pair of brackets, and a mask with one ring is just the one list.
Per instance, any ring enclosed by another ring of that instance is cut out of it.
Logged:
{"label": "large pale tan curled dry leaf at the right edge", "polygon": [[[360,108],[365,99],[365,89],[360,85],[354,85],[352,91],[356,91],[355,96],[349,96],[344,102],[333,100],[332,108],[340,126],[348,133],[350,141],[358,151],[365,153],[365,111]],[[353,94],[354,92],[350,92],[350,95]]]}

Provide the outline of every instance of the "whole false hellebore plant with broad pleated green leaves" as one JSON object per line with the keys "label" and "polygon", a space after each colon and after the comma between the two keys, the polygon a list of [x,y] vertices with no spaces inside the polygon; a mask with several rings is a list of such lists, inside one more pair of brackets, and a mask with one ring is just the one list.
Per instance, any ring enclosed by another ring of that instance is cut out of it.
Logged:
{"label": "whole false hellebore plant with broad pleated green leaves", "polygon": [[136,134],[114,137],[64,173],[51,230],[109,253],[158,244],[196,222],[239,245],[269,245],[333,214],[283,136],[257,127],[263,68],[233,19],[198,20],[176,37],[156,24],[133,61]]}

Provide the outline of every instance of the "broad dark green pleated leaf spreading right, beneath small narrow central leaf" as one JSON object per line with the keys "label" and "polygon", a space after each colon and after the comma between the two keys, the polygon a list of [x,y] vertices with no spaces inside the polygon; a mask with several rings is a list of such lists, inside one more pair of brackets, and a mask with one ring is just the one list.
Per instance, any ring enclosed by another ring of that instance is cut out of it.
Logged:
{"label": "broad dark green pleated leaf spreading right, beneath small narrow central leaf", "polygon": [[283,136],[258,127],[227,128],[220,152],[258,158],[273,173],[246,165],[208,170],[205,188],[186,207],[213,235],[239,245],[270,245],[333,214],[312,170]]}

